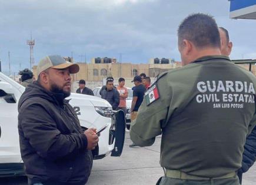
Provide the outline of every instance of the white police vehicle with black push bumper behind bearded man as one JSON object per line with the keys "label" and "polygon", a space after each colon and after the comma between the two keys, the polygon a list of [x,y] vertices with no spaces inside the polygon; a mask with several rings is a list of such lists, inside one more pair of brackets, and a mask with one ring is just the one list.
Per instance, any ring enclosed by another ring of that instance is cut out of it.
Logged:
{"label": "white police vehicle with black push bumper behind bearded man", "polygon": [[[24,86],[0,72],[0,177],[24,174],[18,134],[18,102],[24,91]],[[92,151],[94,159],[102,159],[109,153],[120,156],[125,138],[124,113],[113,112],[107,100],[95,96],[71,93],[67,99],[71,99],[69,103],[85,129],[99,130],[107,125]]]}

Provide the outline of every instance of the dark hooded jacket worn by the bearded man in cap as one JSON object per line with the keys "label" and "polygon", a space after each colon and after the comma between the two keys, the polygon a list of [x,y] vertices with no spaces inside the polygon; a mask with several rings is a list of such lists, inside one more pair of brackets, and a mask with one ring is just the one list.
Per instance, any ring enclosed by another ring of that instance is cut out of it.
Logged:
{"label": "dark hooded jacket worn by the bearded man in cap", "polygon": [[92,155],[78,117],[63,95],[35,82],[19,99],[18,112],[21,157],[29,184],[85,184]]}

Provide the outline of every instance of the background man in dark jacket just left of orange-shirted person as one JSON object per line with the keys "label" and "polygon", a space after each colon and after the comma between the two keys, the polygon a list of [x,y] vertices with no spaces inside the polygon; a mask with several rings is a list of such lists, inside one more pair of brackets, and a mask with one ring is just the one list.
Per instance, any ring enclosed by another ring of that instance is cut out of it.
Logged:
{"label": "background man in dark jacket just left of orange-shirted person", "polygon": [[114,88],[114,80],[107,79],[107,89],[103,89],[101,92],[101,98],[107,100],[112,106],[113,110],[117,110],[119,105],[119,92]]}

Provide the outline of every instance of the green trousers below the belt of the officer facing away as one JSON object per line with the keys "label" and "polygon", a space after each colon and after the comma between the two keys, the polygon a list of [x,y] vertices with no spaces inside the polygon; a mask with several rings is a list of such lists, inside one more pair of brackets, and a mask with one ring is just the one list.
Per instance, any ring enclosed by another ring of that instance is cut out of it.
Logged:
{"label": "green trousers below the belt of the officer facing away", "polygon": [[189,180],[189,179],[172,179],[162,177],[160,185],[240,185],[238,177],[227,179],[212,179],[212,180]]}

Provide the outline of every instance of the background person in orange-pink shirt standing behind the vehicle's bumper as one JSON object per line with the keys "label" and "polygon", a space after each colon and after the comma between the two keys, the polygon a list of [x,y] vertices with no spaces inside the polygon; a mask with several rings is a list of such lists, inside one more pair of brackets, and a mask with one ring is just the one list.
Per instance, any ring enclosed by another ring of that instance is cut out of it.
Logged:
{"label": "background person in orange-pink shirt standing behind the vehicle's bumper", "polygon": [[119,85],[117,86],[117,90],[119,92],[119,105],[118,105],[118,110],[121,109],[124,111],[126,114],[127,108],[126,108],[126,99],[128,97],[128,89],[125,88],[125,79],[124,78],[119,78],[118,79]]}

